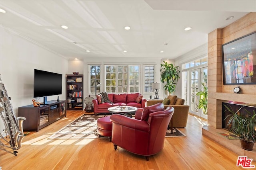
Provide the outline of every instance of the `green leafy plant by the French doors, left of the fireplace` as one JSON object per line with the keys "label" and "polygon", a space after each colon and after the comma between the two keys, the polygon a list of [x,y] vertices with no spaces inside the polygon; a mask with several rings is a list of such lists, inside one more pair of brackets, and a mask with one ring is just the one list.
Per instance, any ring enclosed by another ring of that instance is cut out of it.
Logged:
{"label": "green leafy plant by the French doors, left of the fireplace", "polygon": [[196,93],[196,96],[200,96],[200,99],[198,101],[198,108],[203,109],[203,113],[207,115],[207,105],[208,105],[208,88],[204,85],[204,83],[201,83],[203,85],[203,90]]}

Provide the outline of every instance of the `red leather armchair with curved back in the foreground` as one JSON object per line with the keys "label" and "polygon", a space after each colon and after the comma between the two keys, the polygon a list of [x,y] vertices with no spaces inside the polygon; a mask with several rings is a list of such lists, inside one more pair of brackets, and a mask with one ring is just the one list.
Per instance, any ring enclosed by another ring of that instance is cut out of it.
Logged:
{"label": "red leather armchair with curved back in the foreground", "polygon": [[164,110],[164,105],[158,103],[144,109],[138,108],[135,119],[124,115],[111,115],[112,143],[134,154],[149,156],[164,148],[164,138],[169,122],[174,113],[173,107]]}

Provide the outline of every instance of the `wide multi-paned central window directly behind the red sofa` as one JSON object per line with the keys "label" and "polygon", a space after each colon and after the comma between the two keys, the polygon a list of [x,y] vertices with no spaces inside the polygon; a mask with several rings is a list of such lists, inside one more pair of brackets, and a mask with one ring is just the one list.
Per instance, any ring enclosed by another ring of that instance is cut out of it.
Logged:
{"label": "wide multi-paned central window directly behind the red sofa", "polygon": [[107,93],[139,92],[140,66],[106,65]]}

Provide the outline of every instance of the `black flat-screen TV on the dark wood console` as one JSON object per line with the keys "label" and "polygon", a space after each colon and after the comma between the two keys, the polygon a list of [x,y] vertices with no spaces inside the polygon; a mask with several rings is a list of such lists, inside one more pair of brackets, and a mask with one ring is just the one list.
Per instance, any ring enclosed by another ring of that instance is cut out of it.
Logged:
{"label": "black flat-screen TV on the dark wood console", "polygon": [[58,94],[62,94],[62,74],[34,69],[34,98]]}

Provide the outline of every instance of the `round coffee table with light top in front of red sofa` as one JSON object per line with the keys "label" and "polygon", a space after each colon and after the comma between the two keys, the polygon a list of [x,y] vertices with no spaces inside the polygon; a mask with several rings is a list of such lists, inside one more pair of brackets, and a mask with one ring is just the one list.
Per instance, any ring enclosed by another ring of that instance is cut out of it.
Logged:
{"label": "round coffee table with light top in front of red sofa", "polygon": [[133,107],[133,106],[114,106],[114,107],[109,107],[108,111],[111,112],[112,114],[118,113],[118,114],[125,115],[132,118],[131,112],[136,111],[137,109],[138,109],[137,107]]}

